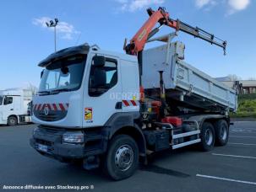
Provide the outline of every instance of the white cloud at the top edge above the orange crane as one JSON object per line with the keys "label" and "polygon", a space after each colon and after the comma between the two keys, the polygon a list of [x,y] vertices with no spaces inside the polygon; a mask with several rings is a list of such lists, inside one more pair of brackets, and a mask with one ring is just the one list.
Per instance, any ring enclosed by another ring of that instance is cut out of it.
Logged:
{"label": "white cloud at the top edge above the orange crane", "polygon": [[148,8],[151,5],[161,5],[165,0],[116,0],[120,3],[121,11],[134,12],[143,8]]}

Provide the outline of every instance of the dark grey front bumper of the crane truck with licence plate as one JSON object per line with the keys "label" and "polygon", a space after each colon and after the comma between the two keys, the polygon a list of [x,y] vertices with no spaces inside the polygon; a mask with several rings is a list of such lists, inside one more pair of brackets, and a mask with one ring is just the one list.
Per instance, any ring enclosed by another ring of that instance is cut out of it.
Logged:
{"label": "dark grey front bumper of the crane truck with licence plate", "polygon": [[[57,160],[84,158],[83,144],[63,143],[64,130],[38,128],[30,138],[30,146],[37,152]],[[41,149],[44,147],[44,150]]]}

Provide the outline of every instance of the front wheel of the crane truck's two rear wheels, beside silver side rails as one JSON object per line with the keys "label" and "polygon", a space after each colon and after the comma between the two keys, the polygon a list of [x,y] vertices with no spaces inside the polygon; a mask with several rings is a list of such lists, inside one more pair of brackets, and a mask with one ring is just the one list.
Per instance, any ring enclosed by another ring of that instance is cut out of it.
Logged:
{"label": "front wheel of the crane truck's two rear wheels, beside silver side rails", "polygon": [[201,129],[201,148],[204,152],[209,152],[215,146],[215,128],[209,122],[204,122]]}

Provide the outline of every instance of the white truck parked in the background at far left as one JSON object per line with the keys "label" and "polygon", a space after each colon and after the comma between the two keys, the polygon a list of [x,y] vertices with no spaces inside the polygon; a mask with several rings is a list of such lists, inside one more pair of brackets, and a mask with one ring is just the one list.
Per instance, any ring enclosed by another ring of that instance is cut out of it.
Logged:
{"label": "white truck parked in the background at far left", "polygon": [[10,88],[0,91],[0,125],[14,126],[31,122],[33,93],[28,89]]}

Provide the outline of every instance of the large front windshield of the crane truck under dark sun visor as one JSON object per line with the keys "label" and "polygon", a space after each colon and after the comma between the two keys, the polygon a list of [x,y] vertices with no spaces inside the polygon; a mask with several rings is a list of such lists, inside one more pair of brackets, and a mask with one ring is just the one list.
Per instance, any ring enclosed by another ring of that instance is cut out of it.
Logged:
{"label": "large front windshield of the crane truck under dark sun visor", "polygon": [[43,72],[39,93],[76,90],[82,83],[86,55],[52,62]]}

